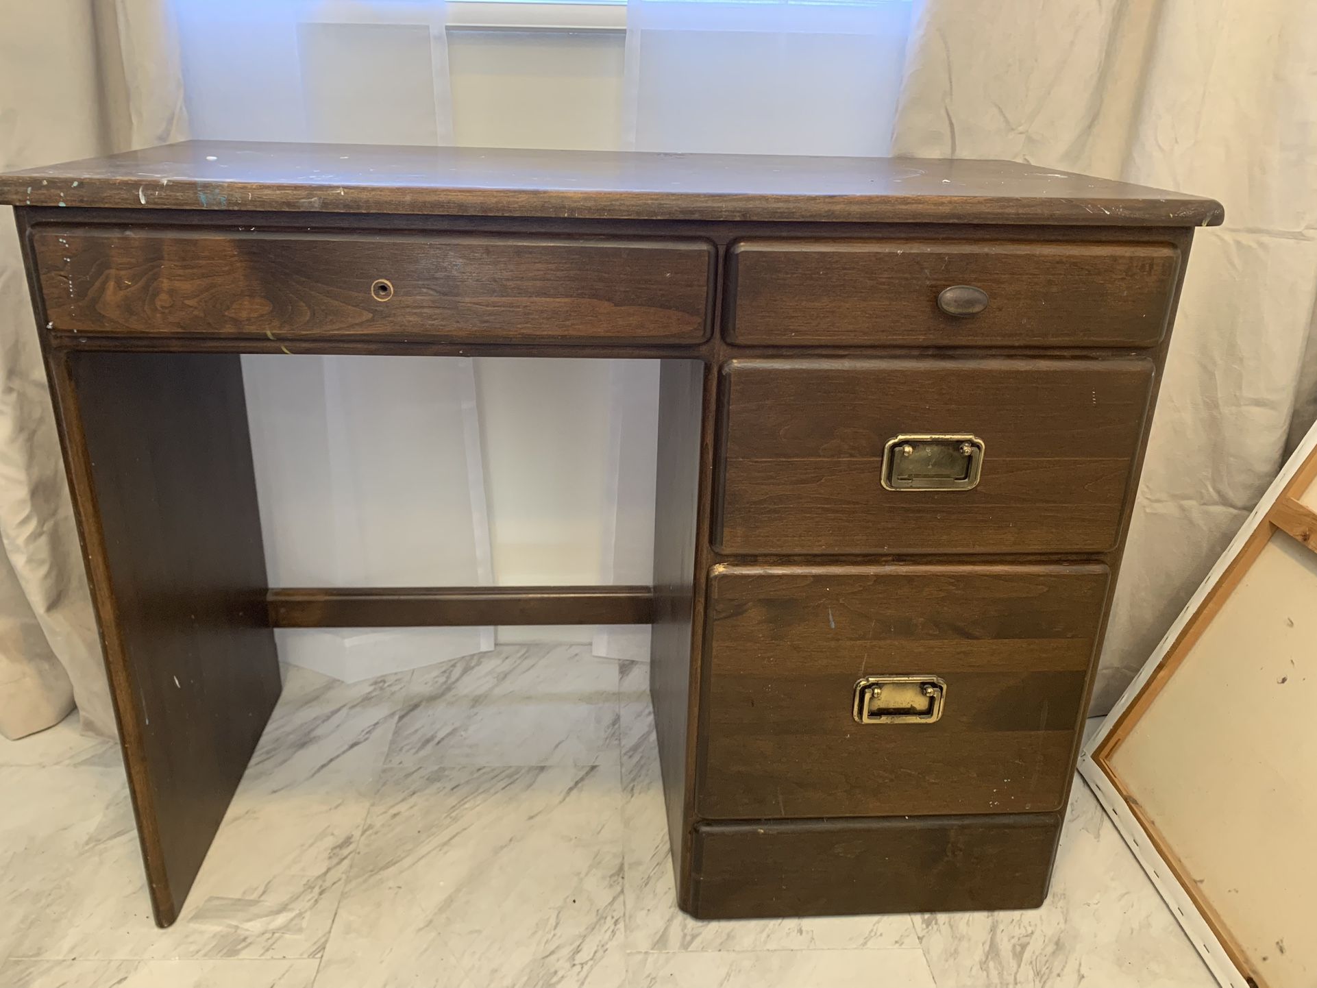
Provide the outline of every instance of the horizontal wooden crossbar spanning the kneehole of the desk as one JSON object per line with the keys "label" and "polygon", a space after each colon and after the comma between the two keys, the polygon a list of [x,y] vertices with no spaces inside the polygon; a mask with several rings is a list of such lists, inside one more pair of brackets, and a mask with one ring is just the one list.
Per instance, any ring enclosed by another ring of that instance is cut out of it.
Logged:
{"label": "horizontal wooden crossbar spanning the kneehole of the desk", "polygon": [[270,590],[277,628],[648,624],[648,586],[395,586]]}

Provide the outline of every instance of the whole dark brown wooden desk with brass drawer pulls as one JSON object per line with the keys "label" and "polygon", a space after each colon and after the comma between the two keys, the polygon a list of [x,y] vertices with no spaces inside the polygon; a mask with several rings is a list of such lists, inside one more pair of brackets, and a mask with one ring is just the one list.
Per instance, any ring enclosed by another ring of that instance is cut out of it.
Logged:
{"label": "whole dark brown wooden desk with brass drawer pulls", "polygon": [[[1006,162],[198,142],[0,202],[159,923],[277,626],[652,620],[684,909],[1042,901],[1217,203]],[[652,590],[267,588],[238,354],[271,352],[660,360]]]}

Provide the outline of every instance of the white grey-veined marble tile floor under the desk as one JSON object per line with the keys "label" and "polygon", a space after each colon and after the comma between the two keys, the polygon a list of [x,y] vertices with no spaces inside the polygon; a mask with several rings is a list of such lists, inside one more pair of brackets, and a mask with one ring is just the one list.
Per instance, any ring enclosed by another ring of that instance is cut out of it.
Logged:
{"label": "white grey-veined marble tile floor under the desk", "polygon": [[0,739],[3,988],[1210,988],[1083,782],[1038,910],[698,922],[641,663],[502,647],[283,698],[179,922],[113,746]]}

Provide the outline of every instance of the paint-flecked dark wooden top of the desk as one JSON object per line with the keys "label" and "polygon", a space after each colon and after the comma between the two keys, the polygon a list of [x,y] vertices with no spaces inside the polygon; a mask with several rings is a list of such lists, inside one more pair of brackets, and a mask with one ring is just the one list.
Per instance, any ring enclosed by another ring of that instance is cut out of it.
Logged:
{"label": "paint-flecked dark wooden top of the desk", "polygon": [[11,206],[1208,227],[1212,199],[1008,161],[184,141],[0,175]]}

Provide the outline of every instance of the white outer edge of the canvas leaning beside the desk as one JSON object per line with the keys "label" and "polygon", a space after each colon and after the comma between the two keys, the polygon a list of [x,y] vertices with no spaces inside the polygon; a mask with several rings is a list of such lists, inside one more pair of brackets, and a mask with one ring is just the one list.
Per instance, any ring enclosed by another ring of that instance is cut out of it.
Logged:
{"label": "white outer edge of the canvas leaning beside the desk", "polygon": [[1281,491],[1284,491],[1285,485],[1293,478],[1303,466],[1308,456],[1317,448],[1317,424],[1308,431],[1304,436],[1304,441],[1299,444],[1293,454],[1281,468],[1276,480],[1272,481],[1271,486],[1267,487],[1267,493],[1262,495],[1258,506],[1252,510],[1245,523],[1239,527],[1238,534],[1226,547],[1226,551],[1221,553],[1221,559],[1217,560],[1216,565],[1208,572],[1206,578],[1189,598],[1189,602],[1180,611],[1180,615],[1171,624],[1169,630],[1162,638],[1162,642],[1154,649],[1152,656],[1143,664],[1138,676],[1130,682],[1129,688],[1121,694],[1121,698],[1112,707],[1112,713],[1106,715],[1102,721],[1102,726],[1093,734],[1088,744],[1079,756],[1079,771],[1084,776],[1084,780],[1089,784],[1093,792],[1097,794],[1098,802],[1102,809],[1106,810],[1112,822],[1115,825],[1117,831],[1125,838],[1125,843],[1129,846],[1130,851],[1138,859],[1143,871],[1147,872],[1148,879],[1156,887],[1158,893],[1171,908],[1175,918],[1179,921],[1180,926],[1184,929],[1185,935],[1193,942],[1195,950],[1202,956],[1204,963],[1208,970],[1212,971],[1213,977],[1223,988],[1250,988],[1243,972],[1234,966],[1230,960],[1229,954],[1226,954],[1225,947],[1217,935],[1212,931],[1208,921],[1198,912],[1198,908],[1189,898],[1189,893],[1185,892],[1180,880],[1175,876],[1175,871],[1171,868],[1169,863],[1152,844],[1148,838],[1147,831],[1143,825],[1134,817],[1130,811],[1129,804],[1117,792],[1115,786],[1112,785],[1110,779],[1106,773],[1093,761],[1094,752],[1106,742],[1110,735],[1112,728],[1115,727],[1117,722],[1121,719],[1121,714],[1133,703],[1138,696],[1143,692],[1143,686],[1158,671],[1166,653],[1171,651],[1180,632],[1184,630],[1185,624],[1198,613],[1202,606],[1204,599],[1212,591],[1212,588],[1217,585],[1221,576],[1226,572],[1226,568],[1234,561],[1234,559],[1243,549],[1245,543],[1258,531],[1258,526],[1263,523],[1267,512],[1271,511],[1272,505],[1280,498]]}

